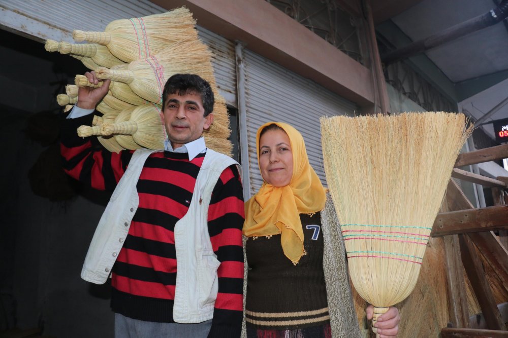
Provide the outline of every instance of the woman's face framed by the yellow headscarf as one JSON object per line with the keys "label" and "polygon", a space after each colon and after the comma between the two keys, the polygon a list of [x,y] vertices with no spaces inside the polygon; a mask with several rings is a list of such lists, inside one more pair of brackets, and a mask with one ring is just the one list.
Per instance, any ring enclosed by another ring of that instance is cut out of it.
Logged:
{"label": "woman's face framed by the yellow headscarf", "polygon": [[284,186],[293,176],[291,143],[283,130],[267,130],[259,140],[259,167],[268,184]]}

